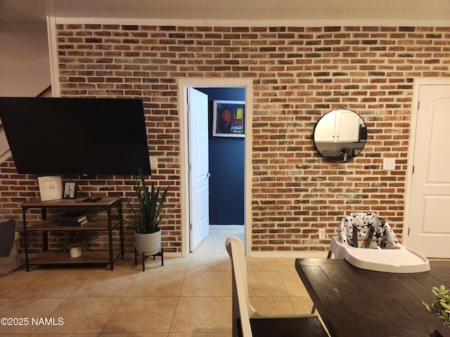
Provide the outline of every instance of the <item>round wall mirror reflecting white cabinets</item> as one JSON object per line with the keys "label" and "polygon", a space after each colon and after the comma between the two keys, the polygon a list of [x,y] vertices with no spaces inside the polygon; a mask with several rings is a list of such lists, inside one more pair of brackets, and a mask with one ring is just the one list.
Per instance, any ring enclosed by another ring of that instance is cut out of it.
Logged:
{"label": "round wall mirror reflecting white cabinets", "polygon": [[314,128],[317,151],[331,161],[342,162],[356,157],[366,141],[366,124],[352,110],[331,110],[319,119]]}

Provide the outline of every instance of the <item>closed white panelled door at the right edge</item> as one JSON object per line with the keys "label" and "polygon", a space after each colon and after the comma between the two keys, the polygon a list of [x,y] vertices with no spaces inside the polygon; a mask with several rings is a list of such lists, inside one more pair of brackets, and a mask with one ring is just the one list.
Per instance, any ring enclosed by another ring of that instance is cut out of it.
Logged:
{"label": "closed white panelled door at the right edge", "polygon": [[450,258],[450,85],[420,85],[407,246]]}

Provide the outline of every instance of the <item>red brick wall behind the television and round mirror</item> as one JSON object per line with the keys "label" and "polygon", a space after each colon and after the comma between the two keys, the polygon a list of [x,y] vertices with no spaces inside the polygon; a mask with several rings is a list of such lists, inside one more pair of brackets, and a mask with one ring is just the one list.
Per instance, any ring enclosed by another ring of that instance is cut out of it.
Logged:
{"label": "red brick wall behind the television and round mirror", "polygon": [[[352,211],[378,212],[401,238],[414,79],[450,76],[450,27],[57,28],[61,95],[143,99],[159,158],[152,179],[173,185],[163,232],[172,251],[181,251],[179,78],[253,80],[253,251],[326,250]],[[323,160],[312,141],[316,121],[338,107],[368,126],[363,152],[345,164]],[[383,157],[396,170],[383,171]],[[2,211],[20,218],[34,177],[1,174]],[[131,191],[123,177],[88,187]]]}

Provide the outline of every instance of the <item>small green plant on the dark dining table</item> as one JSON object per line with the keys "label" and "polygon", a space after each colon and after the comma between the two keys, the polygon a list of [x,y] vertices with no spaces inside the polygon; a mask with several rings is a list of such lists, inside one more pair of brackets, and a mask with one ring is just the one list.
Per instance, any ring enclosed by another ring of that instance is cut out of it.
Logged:
{"label": "small green plant on the dark dining table", "polygon": [[423,302],[425,310],[437,315],[436,330],[443,337],[450,337],[450,289],[445,286],[433,286],[431,291],[435,294],[431,305]]}

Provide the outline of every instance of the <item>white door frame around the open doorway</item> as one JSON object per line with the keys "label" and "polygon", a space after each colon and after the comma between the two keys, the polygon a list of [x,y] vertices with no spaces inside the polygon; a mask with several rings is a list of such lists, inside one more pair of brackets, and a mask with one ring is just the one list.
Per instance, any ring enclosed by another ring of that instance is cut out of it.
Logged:
{"label": "white door frame around the open doorway", "polygon": [[[244,228],[245,251],[250,252],[251,237],[251,182],[252,182],[252,79],[178,79],[180,115],[180,202],[181,202],[181,254],[189,254],[189,175],[188,175],[188,110],[187,89],[193,88],[245,88],[245,154],[244,154]],[[225,242],[224,242],[225,245]]]}

